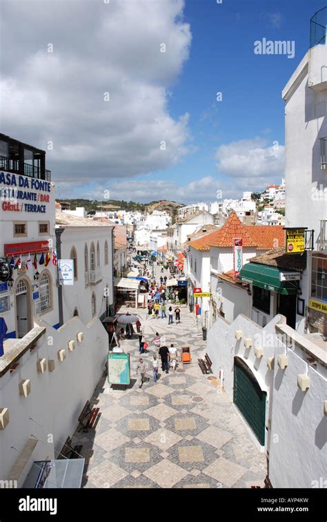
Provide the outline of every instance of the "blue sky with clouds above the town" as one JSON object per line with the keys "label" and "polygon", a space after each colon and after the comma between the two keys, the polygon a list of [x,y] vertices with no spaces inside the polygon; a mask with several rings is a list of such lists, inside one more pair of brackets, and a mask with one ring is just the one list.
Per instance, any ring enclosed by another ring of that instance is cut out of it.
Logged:
{"label": "blue sky with clouds above the town", "polygon": [[[46,150],[61,199],[262,192],[284,177],[281,91],[323,7],[1,0],[1,132]],[[264,39],[288,48],[264,54]]]}

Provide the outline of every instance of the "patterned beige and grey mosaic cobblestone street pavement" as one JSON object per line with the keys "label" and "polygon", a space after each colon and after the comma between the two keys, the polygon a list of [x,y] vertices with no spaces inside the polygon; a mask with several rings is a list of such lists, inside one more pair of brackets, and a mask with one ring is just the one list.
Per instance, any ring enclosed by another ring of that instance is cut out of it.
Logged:
{"label": "patterned beige and grey mosaic cobblestone street pavement", "polygon": [[[130,309],[129,309],[130,310]],[[132,312],[132,310],[130,310]],[[266,456],[260,454],[216,379],[197,363],[205,342],[194,315],[181,308],[181,323],[148,318],[138,310],[144,333],[166,336],[166,343],[188,344],[192,364],[152,377],[153,343],[143,355],[147,381],[139,389],[135,368],[138,339],[123,343],[130,353],[132,383],[124,387],[101,379],[92,402],[99,406],[95,430],[75,434],[86,459],[83,488],[250,488],[264,486]],[[180,350],[179,350],[180,353]]]}

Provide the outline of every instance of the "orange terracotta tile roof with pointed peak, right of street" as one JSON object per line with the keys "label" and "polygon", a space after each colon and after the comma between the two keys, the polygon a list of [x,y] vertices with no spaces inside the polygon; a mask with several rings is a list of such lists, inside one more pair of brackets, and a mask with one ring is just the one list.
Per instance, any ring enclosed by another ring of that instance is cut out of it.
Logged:
{"label": "orange terracotta tile roof with pointed peak, right of street", "polygon": [[232,248],[235,237],[243,238],[244,247],[252,246],[257,250],[269,250],[275,245],[285,244],[285,232],[281,225],[244,225],[233,211],[219,230],[205,234],[188,245],[203,252],[210,250],[210,246]]}

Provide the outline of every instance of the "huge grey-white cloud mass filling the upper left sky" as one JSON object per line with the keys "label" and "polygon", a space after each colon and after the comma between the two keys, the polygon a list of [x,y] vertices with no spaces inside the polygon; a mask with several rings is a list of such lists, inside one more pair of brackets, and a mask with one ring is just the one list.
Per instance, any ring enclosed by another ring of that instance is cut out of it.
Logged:
{"label": "huge grey-white cloud mass filling the upper left sky", "polygon": [[54,179],[132,177],[179,163],[189,115],[170,116],[168,88],[188,59],[183,9],[184,0],[3,0],[2,132],[46,150],[52,141]]}

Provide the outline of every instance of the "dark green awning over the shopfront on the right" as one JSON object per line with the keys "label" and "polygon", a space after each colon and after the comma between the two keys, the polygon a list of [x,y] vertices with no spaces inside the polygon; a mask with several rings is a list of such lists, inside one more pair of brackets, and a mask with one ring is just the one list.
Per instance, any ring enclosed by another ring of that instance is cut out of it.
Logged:
{"label": "dark green awning over the shopfront on the right", "polygon": [[244,283],[250,283],[278,294],[297,294],[299,288],[297,281],[280,281],[280,272],[285,272],[285,270],[259,263],[247,263],[241,268],[239,279]]}

